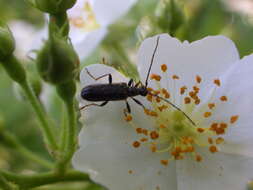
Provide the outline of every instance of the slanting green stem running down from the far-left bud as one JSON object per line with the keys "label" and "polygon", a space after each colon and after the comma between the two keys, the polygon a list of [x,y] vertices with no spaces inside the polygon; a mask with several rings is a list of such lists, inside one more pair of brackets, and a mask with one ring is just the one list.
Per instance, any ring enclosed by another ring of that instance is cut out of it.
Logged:
{"label": "slanting green stem running down from the far-left bud", "polygon": [[50,126],[49,120],[47,120],[47,116],[46,116],[43,108],[41,107],[40,102],[36,98],[35,94],[33,93],[32,89],[29,86],[27,81],[25,81],[24,83],[21,83],[20,85],[23,88],[28,100],[30,101],[34,111],[36,112],[36,114],[38,116],[38,119],[41,124],[41,129],[46,137],[47,143],[49,143],[49,147],[52,150],[56,150],[57,144],[56,144],[56,140],[53,135],[53,132],[52,132],[52,126]]}

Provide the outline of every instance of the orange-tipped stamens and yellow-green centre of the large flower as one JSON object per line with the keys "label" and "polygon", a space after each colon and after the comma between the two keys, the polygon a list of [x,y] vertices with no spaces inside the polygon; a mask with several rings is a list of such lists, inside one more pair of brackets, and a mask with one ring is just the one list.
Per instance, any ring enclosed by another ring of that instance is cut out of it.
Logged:
{"label": "orange-tipped stamens and yellow-green centre of the large flower", "polygon": [[[167,66],[161,65],[161,70],[166,73]],[[222,135],[239,118],[238,115],[233,115],[228,118],[227,122],[213,121],[210,125],[205,124],[209,122],[203,122],[203,120],[208,119],[210,121],[212,119],[216,104],[228,102],[228,97],[225,95],[220,97],[219,102],[217,100],[216,102],[212,101],[216,88],[221,86],[220,80],[213,80],[215,90],[209,99],[210,102],[202,105],[197,114],[193,114],[193,111],[201,102],[198,95],[200,92],[199,85],[202,81],[201,77],[196,76],[196,84],[191,88],[182,86],[178,89],[179,93],[173,92],[174,94],[170,94],[167,89],[162,88],[161,78],[157,74],[151,75],[151,79],[157,83],[158,90],[149,88],[150,94],[146,97],[151,103],[152,109],[145,109],[144,112],[148,117],[154,119],[155,124],[152,128],[146,129],[136,126],[130,115],[125,118],[135,128],[140,137],[133,142],[133,147],[138,148],[141,145],[147,145],[153,153],[169,153],[167,159],[160,160],[163,165],[168,165],[171,160],[182,160],[189,156],[197,162],[202,161],[202,156],[197,152],[198,147],[206,147],[211,153],[218,152],[219,145],[224,143]],[[180,78],[173,75],[172,80],[175,82]],[[179,109],[175,109],[173,105],[164,101],[166,99],[174,102],[175,94],[180,96],[179,106],[175,105]],[[191,117],[192,115],[195,116],[194,119]]]}

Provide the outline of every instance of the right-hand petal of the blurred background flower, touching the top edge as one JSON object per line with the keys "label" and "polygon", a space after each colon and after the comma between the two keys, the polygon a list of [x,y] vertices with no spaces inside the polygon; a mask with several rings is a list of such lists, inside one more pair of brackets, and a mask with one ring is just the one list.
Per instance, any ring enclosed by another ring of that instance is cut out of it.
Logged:
{"label": "right-hand petal of the blurred background flower, touching the top edge", "polygon": [[98,22],[107,26],[123,16],[136,0],[93,0],[92,5]]}

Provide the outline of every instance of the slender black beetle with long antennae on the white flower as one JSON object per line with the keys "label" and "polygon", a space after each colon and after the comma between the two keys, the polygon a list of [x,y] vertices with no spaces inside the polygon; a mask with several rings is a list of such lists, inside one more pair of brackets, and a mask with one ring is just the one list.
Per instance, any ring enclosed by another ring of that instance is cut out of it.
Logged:
{"label": "slender black beetle with long antennae on the white flower", "polygon": [[155,96],[160,98],[161,100],[167,102],[172,107],[180,111],[193,125],[195,123],[191,120],[191,118],[179,107],[177,107],[175,104],[170,102],[169,100],[158,96],[157,94],[153,94],[148,90],[148,78],[150,75],[150,71],[154,62],[154,57],[157,52],[158,44],[159,44],[160,36],[157,37],[156,40],[156,46],[154,49],[154,52],[151,57],[151,63],[148,69],[145,85],[143,85],[140,81],[134,84],[134,80],[130,79],[128,83],[121,82],[121,83],[113,83],[112,82],[112,75],[111,74],[104,74],[99,77],[94,77],[87,68],[85,68],[87,74],[93,78],[94,80],[99,80],[104,77],[108,77],[108,84],[92,84],[85,86],[81,91],[81,97],[84,100],[92,101],[92,102],[100,102],[103,101],[101,104],[91,103],[84,105],[80,108],[80,110],[85,109],[89,106],[105,106],[109,101],[122,101],[124,100],[126,102],[126,109],[124,109],[124,114],[131,113],[130,105],[127,101],[128,98],[131,98],[134,102],[136,102],[138,105],[140,105],[143,109],[146,109],[145,106],[136,98],[135,96],[147,96],[148,94],[151,96]]}

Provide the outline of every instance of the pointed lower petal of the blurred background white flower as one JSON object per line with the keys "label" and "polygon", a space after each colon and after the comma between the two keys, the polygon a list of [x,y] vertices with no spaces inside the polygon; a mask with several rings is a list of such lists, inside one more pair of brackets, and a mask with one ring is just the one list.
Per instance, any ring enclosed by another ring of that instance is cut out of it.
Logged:
{"label": "pointed lower petal of the blurred background white flower", "polygon": [[70,30],[70,39],[80,59],[83,60],[92,53],[106,34],[106,28],[99,28],[91,32],[72,29]]}

